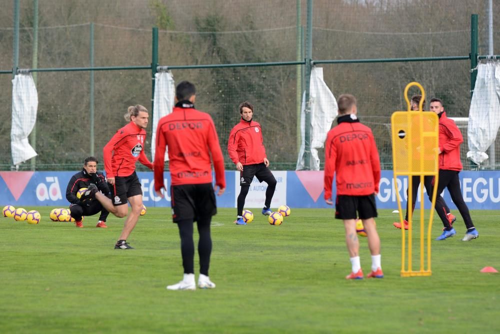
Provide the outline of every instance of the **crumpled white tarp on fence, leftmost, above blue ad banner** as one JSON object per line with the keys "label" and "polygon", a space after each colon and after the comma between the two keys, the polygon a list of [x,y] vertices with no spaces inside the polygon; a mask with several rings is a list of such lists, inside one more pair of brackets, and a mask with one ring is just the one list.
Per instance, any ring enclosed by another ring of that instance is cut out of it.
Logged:
{"label": "crumpled white tarp on fence, leftmost, above blue ad banner", "polygon": [[10,150],[12,164],[18,165],[36,156],[28,136],[36,123],[38,93],[31,74],[17,74],[12,80],[12,123]]}

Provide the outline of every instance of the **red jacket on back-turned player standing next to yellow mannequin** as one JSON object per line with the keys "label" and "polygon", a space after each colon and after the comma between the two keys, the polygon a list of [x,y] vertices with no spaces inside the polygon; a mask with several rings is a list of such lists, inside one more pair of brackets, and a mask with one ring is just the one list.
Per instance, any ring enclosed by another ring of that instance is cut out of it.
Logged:
{"label": "red jacket on back-turned player standing next to yellow mannequin", "polygon": [[371,129],[355,115],[343,115],[326,136],[324,198],[331,198],[336,172],[337,195],[364,196],[378,192],[380,160]]}

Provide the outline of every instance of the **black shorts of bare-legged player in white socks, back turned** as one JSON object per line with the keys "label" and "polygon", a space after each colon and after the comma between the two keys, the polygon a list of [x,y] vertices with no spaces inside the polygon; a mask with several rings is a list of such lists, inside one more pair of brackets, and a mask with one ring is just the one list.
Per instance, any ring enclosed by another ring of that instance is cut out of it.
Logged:
{"label": "black shorts of bare-legged player in white socks, back turned", "polygon": [[375,194],[366,196],[337,195],[335,200],[336,219],[368,219],[376,216]]}

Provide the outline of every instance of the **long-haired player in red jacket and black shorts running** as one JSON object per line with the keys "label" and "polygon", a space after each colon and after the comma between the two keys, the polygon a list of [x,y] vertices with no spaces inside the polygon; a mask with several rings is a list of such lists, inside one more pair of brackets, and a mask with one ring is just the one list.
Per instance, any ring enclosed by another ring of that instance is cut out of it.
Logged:
{"label": "long-haired player in red jacket and black shorts running", "polygon": [[114,245],[115,249],[133,249],[126,239],[135,227],[142,210],[142,188],[135,173],[135,162],[139,160],[144,166],[153,168],[143,150],[147,109],[141,105],[130,106],[124,117],[129,123],[119,129],[102,149],[112,200],[98,192],[97,187],[92,187],[92,184],[88,186],[87,191],[90,196],[95,196],[107,211],[119,218],[127,215],[130,203],[131,211],[125,220],[119,240]]}

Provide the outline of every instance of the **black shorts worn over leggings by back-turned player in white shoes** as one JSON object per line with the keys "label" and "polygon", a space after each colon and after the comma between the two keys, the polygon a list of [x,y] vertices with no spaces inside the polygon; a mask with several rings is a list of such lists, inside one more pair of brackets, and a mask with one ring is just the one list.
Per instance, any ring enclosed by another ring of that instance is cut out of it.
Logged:
{"label": "black shorts worn over leggings by back-turned player in white shoes", "polygon": [[170,187],[172,220],[211,217],[217,213],[215,193],[211,183],[181,184]]}

